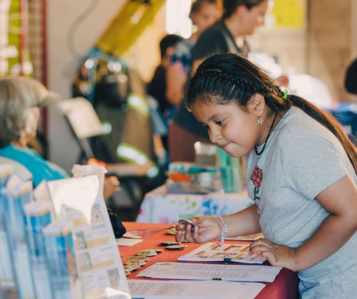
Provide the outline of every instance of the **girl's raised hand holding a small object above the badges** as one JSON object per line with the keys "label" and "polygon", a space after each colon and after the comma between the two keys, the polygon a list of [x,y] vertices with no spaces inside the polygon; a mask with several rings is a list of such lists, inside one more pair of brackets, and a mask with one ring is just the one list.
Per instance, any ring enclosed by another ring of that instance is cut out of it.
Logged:
{"label": "girl's raised hand holding a small object above the badges", "polygon": [[192,222],[196,224],[193,232],[190,224],[187,225],[186,230],[184,225],[176,225],[177,242],[206,243],[221,236],[223,224],[217,216],[200,216],[192,219]]}

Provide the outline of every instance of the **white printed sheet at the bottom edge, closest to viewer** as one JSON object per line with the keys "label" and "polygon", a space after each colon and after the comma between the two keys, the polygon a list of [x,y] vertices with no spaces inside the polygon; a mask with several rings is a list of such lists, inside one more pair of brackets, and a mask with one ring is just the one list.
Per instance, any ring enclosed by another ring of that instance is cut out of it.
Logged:
{"label": "white printed sheet at the bottom edge, closest to viewer", "polygon": [[129,279],[128,282],[133,299],[252,299],[265,287],[264,283],[230,281]]}

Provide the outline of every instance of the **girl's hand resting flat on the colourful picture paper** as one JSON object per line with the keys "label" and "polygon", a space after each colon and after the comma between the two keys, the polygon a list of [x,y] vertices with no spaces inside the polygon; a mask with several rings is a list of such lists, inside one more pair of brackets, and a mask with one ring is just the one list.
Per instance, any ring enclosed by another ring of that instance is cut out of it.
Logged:
{"label": "girl's hand resting flat on the colourful picture paper", "polygon": [[287,268],[296,271],[295,248],[277,245],[267,240],[259,238],[249,247],[249,254],[260,253],[260,256],[267,258],[271,266]]}

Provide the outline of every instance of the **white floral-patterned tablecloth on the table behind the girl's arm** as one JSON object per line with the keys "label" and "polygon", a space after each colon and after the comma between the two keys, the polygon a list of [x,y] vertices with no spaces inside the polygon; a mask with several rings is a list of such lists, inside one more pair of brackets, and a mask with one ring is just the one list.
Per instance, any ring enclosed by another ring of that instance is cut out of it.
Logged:
{"label": "white floral-patterned tablecloth on the table behind the girl's arm", "polygon": [[169,194],[165,185],[148,192],[140,206],[137,222],[175,223],[200,215],[226,215],[247,208],[252,200],[240,193]]}

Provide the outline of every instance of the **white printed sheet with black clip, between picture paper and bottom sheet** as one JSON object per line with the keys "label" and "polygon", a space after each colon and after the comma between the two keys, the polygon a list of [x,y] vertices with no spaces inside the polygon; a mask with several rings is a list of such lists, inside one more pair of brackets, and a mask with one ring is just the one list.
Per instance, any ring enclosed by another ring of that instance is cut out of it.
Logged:
{"label": "white printed sheet with black clip, between picture paper and bottom sheet", "polygon": [[230,280],[271,283],[279,274],[280,270],[281,267],[262,265],[160,262],[140,271],[137,276],[166,279]]}

